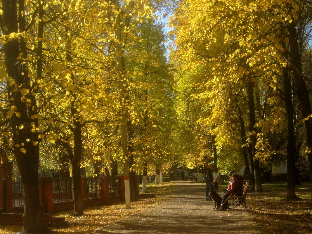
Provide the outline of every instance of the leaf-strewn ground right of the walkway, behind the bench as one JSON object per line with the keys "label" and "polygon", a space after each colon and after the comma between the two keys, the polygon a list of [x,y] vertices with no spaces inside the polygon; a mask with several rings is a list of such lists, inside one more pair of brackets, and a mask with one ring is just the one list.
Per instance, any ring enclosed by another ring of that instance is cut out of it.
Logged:
{"label": "leaf-strewn ground right of the walkway, behind the bench", "polygon": [[[277,185],[278,186],[278,185]],[[306,184],[305,188],[308,188]],[[265,188],[265,186],[264,186]],[[284,191],[283,191],[284,190]],[[311,189],[296,188],[299,199],[286,200],[284,189],[250,193],[246,198],[263,234],[312,234]]]}

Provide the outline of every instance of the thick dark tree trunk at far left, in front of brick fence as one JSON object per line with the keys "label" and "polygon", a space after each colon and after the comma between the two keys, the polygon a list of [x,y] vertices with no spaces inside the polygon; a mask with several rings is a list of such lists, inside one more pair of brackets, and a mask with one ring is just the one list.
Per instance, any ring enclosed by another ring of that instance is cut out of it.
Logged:
{"label": "thick dark tree trunk at far left, in front of brick fence", "polygon": [[[18,9],[17,9],[18,6]],[[26,23],[23,12],[24,1],[2,0],[2,26],[7,30],[5,35],[26,31]],[[18,19],[17,19],[18,15]],[[42,4],[39,4],[39,18],[42,17]],[[38,31],[41,31],[43,24],[40,24]],[[3,28],[3,27],[2,27]],[[18,30],[19,29],[19,30]],[[39,33],[38,32],[38,33]],[[15,107],[11,115],[12,140],[14,145],[14,155],[17,166],[22,176],[24,188],[24,213],[23,213],[23,232],[44,232],[46,227],[43,226],[41,218],[41,209],[39,204],[39,187],[38,187],[38,167],[39,167],[39,139],[38,132],[33,132],[38,127],[37,119],[31,119],[31,116],[37,115],[36,90],[32,90],[31,78],[28,77],[28,68],[17,57],[22,53],[22,58],[27,60],[26,42],[22,37],[13,38],[8,41],[4,48],[5,65],[7,73],[12,77],[15,84],[7,85],[7,94],[10,101],[10,107]],[[37,46],[38,60],[41,58],[42,49]],[[41,67],[37,67],[37,72],[41,76]],[[25,96],[19,91],[13,89],[27,89],[29,93]],[[22,101],[27,98],[29,102]],[[20,116],[18,116],[20,115]],[[32,124],[33,126],[32,126]],[[20,126],[23,126],[21,128]],[[27,140],[31,139],[31,140]]]}

